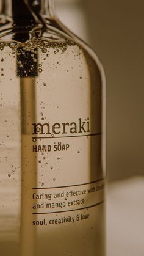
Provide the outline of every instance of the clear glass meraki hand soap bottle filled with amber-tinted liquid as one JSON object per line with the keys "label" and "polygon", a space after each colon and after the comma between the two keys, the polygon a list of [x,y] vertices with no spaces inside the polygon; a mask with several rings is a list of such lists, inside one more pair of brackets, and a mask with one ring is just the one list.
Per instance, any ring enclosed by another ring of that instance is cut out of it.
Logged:
{"label": "clear glass meraki hand soap bottle filled with amber-tinted liquid", "polygon": [[52,0],[0,1],[2,256],[104,256],[105,79]]}

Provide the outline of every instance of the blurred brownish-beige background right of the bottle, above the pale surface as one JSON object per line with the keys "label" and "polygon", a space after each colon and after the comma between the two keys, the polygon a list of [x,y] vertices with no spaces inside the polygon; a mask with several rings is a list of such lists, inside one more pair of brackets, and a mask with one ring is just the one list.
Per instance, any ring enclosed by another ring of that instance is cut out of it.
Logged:
{"label": "blurred brownish-beige background right of the bottle, above the pale surface", "polygon": [[144,167],[143,0],[56,0],[63,23],[95,49],[107,79],[109,181]]}

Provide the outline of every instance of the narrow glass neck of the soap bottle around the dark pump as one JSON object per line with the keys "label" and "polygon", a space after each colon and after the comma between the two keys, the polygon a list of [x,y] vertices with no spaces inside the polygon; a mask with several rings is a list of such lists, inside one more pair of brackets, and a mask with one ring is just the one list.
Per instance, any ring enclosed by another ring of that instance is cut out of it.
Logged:
{"label": "narrow glass neck of the soap bottle around the dark pump", "polygon": [[0,0],[0,14],[19,21],[39,15],[53,19],[54,0]]}

